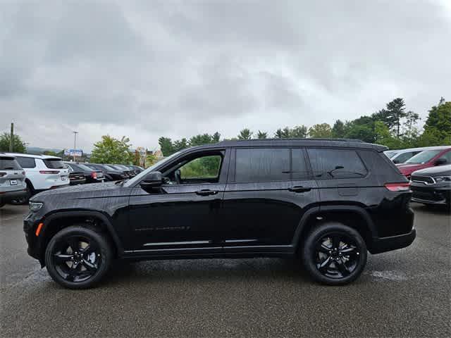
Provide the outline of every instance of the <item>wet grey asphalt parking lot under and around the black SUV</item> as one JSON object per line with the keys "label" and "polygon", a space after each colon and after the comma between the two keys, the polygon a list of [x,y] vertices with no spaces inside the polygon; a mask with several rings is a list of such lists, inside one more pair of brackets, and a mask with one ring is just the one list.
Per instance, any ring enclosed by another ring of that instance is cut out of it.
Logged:
{"label": "wet grey asphalt parking lot under and around the black SUV", "polygon": [[59,287],[27,256],[27,206],[4,206],[1,337],[450,337],[451,218],[413,206],[414,244],[369,256],[346,287],[259,258],[116,263],[85,291]]}

